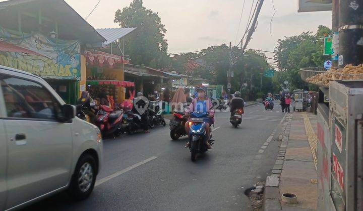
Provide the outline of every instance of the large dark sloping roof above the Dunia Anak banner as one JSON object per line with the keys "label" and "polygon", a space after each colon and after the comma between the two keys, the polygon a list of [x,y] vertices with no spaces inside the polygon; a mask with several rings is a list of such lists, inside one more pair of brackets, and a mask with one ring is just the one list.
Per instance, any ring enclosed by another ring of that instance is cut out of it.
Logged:
{"label": "large dark sloping roof above the Dunia Anak banner", "polygon": [[[0,2],[1,26],[18,31],[18,12],[21,14],[22,28],[47,34],[58,28],[58,38],[79,40],[83,43],[106,41],[86,20],[84,20],[64,0],[10,0]],[[39,16],[40,15],[40,16]],[[56,27],[57,26],[57,27]]]}

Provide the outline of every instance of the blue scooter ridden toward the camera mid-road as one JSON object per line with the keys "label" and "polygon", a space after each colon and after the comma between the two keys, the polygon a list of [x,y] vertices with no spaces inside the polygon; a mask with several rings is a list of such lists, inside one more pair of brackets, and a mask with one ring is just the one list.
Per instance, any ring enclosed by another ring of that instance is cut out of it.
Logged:
{"label": "blue scooter ridden toward the camera mid-road", "polygon": [[[196,161],[198,153],[204,153],[208,151],[207,146],[205,145],[206,137],[206,129],[204,118],[207,118],[209,115],[208,112],[191,112],[190,113],[190,122],[189,122],[189,149],[191,152],[192,161]],[[210,129],[209,136],[209,144],[213,145],[212,130]]]}

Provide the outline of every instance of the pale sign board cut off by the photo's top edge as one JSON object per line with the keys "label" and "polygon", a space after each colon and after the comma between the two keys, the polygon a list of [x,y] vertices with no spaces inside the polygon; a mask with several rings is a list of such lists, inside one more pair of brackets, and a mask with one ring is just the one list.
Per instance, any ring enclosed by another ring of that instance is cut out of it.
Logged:
{"label": "pale sign board cut off by the photo's top edge", "polygon": [[333,9],[332,0],[298,0],[298,13],[331,11]]}

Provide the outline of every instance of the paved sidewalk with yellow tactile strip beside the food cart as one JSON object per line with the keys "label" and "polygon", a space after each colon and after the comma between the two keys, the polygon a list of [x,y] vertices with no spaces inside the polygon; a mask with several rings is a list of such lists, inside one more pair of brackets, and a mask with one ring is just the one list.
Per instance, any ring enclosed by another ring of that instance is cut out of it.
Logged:
{"label": "paved sidewalk with yellow tactile strip beside the food cart", "polygon": [[[312,153],[317,144],[317,117],[310,113],[293,113],[290,117],[276,161],[281,165],[275,165],[275,174],[269,176],[270,180],[279,179],[275,186],[266,183],[264,210],[317,209],[316,159]],[[297,203],[283,202],[282,193],[297,195]]]}

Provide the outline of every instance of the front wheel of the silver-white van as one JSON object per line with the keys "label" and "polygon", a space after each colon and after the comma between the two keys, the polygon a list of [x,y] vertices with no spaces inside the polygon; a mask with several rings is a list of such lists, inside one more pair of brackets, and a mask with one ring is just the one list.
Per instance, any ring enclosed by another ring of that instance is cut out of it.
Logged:
{"label": "front wheel of the silver-white van", "polygon": [[93,190],[96,176],[95,159],[89,154],[82,155],[78,160],[68,189],[72,198],[75,200],[86,199]]}

